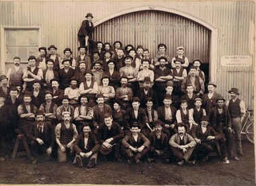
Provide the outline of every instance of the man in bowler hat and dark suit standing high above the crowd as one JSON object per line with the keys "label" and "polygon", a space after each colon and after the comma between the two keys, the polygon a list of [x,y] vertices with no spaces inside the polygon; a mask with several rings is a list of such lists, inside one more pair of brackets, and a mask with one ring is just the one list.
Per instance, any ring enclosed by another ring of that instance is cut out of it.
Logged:
{"label": "man in bowler hat and dark suit standing high above the crowd", "polygon": [[90,43],[90,51],[93,51],[96,48],[96,42],[92,40],[92,33],[94,32],[94,24],[92,23],[92,13],[86,14],[86,20],[82,21],[82,25],[78,30],[77,39],[79,41],[80,46],[86,46],[89,48]]}

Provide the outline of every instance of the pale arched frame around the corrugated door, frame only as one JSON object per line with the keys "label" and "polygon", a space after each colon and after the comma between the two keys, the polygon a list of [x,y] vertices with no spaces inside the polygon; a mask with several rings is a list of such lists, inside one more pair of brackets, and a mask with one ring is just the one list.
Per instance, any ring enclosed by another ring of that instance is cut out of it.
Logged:
{"label": "pale arched frame around the corrugated door, frame only", "polygon": [[109,19],[113,19],[115,17],[119,17],[121,15],[125,15],[127,13],[133,13],[136,11],[146,11],[146,10],[156,10],[156,11],[164,11],[168,13],[174,13],[177,15],[181,15],[183,17],[186,17],[187,19],[191,19],[192,21],[195,21],[197,24],[200,24],[201,26],[204,26],[205,28],[211,30],[211,36],[210,36],[210,71],[209,71],[209,77],[210,81],[217,82],[217,64],[218,64],[218,28],[216,26],[213,26],[209,22],[201,19],[200,17],[197,17],[195,15],[192,15],[190,13],[185,13],[184,11],[178,11],[176,9],[170,9],[170,8],[164,8],[164,7],[154,7],[154,6],[147,6],[147,7],[137,7],[133,9],[127,9],[118,13],[111,14],[109,16],[104,17],[103,19],[100,19],[99,21],[96,21],[94,26],[98,26],[105,21],[108,21]]}

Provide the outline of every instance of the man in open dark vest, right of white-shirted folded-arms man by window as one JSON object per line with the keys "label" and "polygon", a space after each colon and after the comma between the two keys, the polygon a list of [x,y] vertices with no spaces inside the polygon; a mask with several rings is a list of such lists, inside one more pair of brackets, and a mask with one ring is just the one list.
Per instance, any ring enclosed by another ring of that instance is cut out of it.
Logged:
{"label": "man in open dark vest, right of white-shirted folded-arms man by window", "polygon": [[55,71],[54,68],[54,60],[53,59],[46,59],[46,66],[47,69],[45,71],[42,71],[42,77],[44,81],[44,89],[49,90],[51,89],[51,80],[54,78],[59,79],[59,73]]}

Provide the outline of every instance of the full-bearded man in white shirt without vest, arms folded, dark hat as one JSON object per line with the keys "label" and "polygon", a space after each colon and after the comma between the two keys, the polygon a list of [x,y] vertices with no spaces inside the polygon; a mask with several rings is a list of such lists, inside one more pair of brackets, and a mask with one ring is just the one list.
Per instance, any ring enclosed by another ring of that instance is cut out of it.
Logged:
{"label": "full-bearded man in white shirt without vest, arms folded, dark hat", "polygon": [[64,95],[69,97],[69,105],[71,105],[73,108],[79,105],[79,88],[77,87],[77,79],[75,79],[75,77],[71,77],[70,85],[69,87],[65,88]]}

